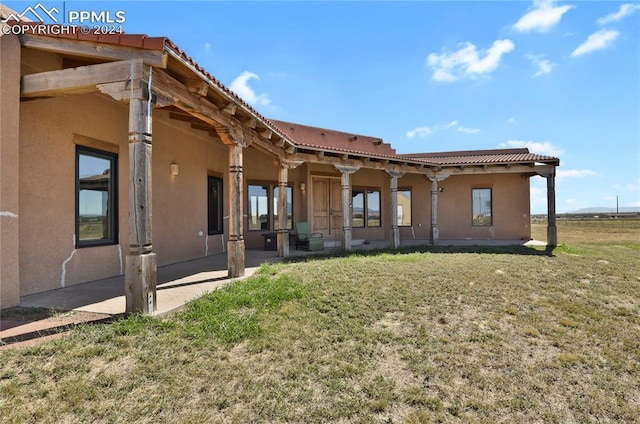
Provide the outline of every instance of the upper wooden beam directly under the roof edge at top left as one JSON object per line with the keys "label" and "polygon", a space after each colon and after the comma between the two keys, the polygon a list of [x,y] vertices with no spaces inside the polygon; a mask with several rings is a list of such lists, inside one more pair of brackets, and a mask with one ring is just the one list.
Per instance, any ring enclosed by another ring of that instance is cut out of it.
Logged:
{"label": "upper wooden beam directly under the roof edge at top left", "polygon": [[22,47],[46,52],[82,56],[103,60],[141,59],[145,64],[158,68],[167,67],[167,53],[163,50],[144,50],[91,41],[41,37],[31,34],[19,35]]}

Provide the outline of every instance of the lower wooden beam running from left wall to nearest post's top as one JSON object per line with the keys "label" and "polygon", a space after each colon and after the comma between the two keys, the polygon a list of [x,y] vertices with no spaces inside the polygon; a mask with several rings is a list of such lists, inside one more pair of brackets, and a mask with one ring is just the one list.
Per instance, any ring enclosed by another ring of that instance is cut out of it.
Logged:
{"label": "lower wooden beam running from left wall to nearest post's top", "polygon": [[20,96],[33,98],[97,93],[98,85],[112,83],[127,88],[128,81],[145,77],[142,63],[142,60],[120,61],[23,75]]}

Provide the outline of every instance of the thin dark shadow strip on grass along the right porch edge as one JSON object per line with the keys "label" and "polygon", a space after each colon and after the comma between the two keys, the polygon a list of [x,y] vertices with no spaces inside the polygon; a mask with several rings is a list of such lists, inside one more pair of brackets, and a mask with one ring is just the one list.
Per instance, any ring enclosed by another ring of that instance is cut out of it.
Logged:
{"label": "thin dark shadow strip on grass along the right porch edge", "polygon": [[369,249],[369,250],[337,250],[329,253],[317,253],[306,256],[295,256],[285,259],[286,263],[308,262],[310,260],[322,260],[331,258],[343,258],[350,256],[378,256],[378,255],[406,255],[411,253],[484,253],[484,254],[504,254],[504,255],[523,255],[523,256],[554,256],[555,247],[547,246],[545,248],[536,248],[529,246],[402,246],[397,249],[390,247]]}

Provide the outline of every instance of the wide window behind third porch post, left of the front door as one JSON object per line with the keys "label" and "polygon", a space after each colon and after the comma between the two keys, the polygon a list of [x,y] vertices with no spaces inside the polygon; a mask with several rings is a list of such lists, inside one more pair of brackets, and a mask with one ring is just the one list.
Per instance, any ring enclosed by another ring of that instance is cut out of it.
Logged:
{"label": "wide window behind third porch post, left of the front door", "polygon": [[[278,229],[278,185],[249,184],[249,231]],[[287,227],[293,228],[293,187],[287,187]]]}

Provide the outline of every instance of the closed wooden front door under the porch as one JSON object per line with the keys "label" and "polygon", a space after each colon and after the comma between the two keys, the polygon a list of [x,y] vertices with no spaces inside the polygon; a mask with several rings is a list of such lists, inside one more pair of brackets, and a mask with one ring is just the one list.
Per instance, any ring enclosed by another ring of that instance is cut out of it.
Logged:
{"label": "closed wooden front door under the porch", "polygon": [[338,235],[342,230],[340,178],[313,178],[313,232]]}

